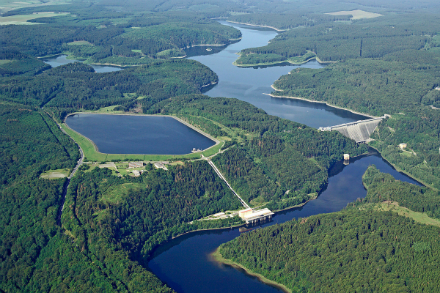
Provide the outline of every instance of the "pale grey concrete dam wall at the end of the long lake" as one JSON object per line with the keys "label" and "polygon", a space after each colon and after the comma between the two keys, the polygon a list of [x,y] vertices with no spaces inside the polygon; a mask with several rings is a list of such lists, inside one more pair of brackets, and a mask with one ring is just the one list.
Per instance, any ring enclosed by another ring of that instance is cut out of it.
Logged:
{"label": "pale grey concrete dam wall at the end of the long lake", "polygon": [[378,118],[372,118],[367,120],[359,120],[355,122],[339,124],[335,126],[319,127],[321,131],[339,131],[342,135],[351,138],[357,143],[369,142],[371,134],[379,125],[382,119],[387,118],[388,115],[384,115]]}

